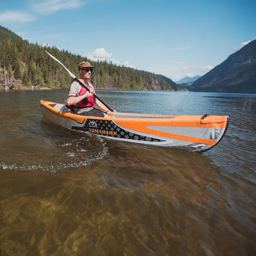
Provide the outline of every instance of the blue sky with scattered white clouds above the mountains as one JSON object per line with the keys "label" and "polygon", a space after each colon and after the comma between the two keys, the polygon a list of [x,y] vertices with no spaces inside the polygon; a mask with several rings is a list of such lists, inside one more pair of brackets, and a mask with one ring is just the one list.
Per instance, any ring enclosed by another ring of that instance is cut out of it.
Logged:
{"label": "blue sky with scattered white clouds above the mountains", "polygon": [[256,0],[0,0],[0,25],[30,43],[177,81],[256,39]]}

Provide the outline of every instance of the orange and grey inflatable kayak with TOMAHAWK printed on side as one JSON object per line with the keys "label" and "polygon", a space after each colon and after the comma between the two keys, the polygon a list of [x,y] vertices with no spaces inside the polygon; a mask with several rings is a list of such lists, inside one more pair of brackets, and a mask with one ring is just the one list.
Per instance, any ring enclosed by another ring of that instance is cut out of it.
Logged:
{"label": "orange and grey inflatable kayak with TOMAHAWK printed on side", "polygon": [[216,146],[228,128],[228,116],[169,116],[109,112],[104,117],[67,112],[64,104],[40,101],[43,116],[64,128],[105,138],[204,152]]}

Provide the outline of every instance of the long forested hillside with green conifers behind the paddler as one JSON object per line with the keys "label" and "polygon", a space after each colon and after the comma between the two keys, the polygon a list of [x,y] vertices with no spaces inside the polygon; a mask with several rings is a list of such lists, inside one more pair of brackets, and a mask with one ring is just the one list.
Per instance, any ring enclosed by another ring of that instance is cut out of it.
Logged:
{"label": "long forested hillside with green conifers behind the paddler", "polygon": [[[56,46],[38,45],[0,26],[0,88],[4,88],[8,75],[9,85],[15,88],[68,88],[72,78],[45,50],[55,56],[77,77],[78,64],[89,61],[95,67],[90,82],[96,89],[122,90],[180,90],[170,79],[161,75],[117,66],[112,62],[92,61]],[[7,86],[7,88],[10,86]]]}

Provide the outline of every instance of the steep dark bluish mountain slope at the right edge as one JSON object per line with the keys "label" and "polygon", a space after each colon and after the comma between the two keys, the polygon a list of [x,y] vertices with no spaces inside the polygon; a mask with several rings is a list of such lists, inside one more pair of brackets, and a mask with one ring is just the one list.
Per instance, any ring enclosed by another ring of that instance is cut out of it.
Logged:
{"label": "steep dark bluish mountain slope at the right edge", "polygon": [[196,80],[190,90],[256,93],[256,40],[246,44]]}

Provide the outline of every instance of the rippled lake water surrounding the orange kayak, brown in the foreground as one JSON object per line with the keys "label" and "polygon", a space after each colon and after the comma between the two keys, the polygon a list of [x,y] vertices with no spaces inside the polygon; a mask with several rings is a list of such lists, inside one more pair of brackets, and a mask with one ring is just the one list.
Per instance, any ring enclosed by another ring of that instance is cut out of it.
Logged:
{"label": "rippled lake water surrounding the orange kayak, brown in the foreground", "polygon": [[228,115],[204,153],[42,118],[66,90],[0,90],[0,255],[256,255],[256,95],[98,90],[122,112]]}

